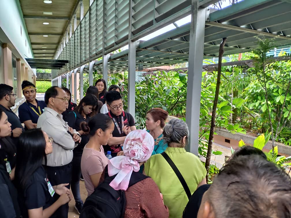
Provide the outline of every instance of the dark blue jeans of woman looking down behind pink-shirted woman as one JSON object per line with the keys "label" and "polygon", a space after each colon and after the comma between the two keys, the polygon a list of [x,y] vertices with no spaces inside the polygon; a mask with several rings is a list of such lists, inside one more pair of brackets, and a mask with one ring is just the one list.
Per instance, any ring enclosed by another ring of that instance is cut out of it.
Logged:
{"label": "dark blue jeans of woman looking down behind pink-shirted woman", "polygon": [[81,158],[82,154],[74,153],[72,160],[71,189],[76,203],[83,203],[80,196]]}

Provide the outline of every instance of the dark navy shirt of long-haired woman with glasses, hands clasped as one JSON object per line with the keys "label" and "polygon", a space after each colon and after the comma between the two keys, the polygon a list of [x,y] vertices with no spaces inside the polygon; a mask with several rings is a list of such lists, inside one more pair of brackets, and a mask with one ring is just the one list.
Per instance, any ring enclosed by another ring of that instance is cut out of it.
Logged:
{"label": "dark navy shirt of long-haired woman with glasses, hands clasped", "polygon": [[44,210],[54,203],[54,199],[49,194],[47,177],[42,166],[34,171],[24,188],[18,185],[18,193],[23,217],[28,217],[27,210],[41,207]]}

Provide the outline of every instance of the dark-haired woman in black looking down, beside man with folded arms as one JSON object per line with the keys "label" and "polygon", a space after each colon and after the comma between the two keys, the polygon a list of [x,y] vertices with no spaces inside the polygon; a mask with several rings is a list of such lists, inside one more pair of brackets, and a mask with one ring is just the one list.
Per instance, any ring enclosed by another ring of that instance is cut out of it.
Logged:
{"label": "dark-haired woman in black looking down, beside man with folded arms", "polygon": [[97,97],[93,94],[87,94],[83,99],[81,99],[79,105],[74,109],[73,112],[68,114],[68,125],[78,131],[81,135],[80,144],[73,150],[73,160],[72,160],[72,181],[71,189],[76,201],[75,207],[78,212],[81,212],[83,207],[83,201],[80,196],[80,176],[81,176],[81,158],[84,146],[89,141],[89,136],[85,134],[81,128],[80,124],[82,122],[89,122],[90,117],[88,116],[97,105]]}

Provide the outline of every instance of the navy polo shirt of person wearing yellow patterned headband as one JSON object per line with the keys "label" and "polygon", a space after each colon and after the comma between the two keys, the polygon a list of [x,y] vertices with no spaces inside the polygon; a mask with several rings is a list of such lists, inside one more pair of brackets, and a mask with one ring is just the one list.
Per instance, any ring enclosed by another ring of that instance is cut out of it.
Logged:
{"label": "navy polo shirt of person wearing yellow patterned headband", "polygon": [[[31,120],[33,123],[37,124],[38,117],[45,112],[45,107],[47,106],[45,101],[36,100],[37,107],[27,101],[22,103],[18,108],[18,116],[21,123],[27,120]],[[39,107],[39,108],[38,108]],[[33,110],[33,109],[34,110]],[[25,129],[26,126],[24,126]]]}

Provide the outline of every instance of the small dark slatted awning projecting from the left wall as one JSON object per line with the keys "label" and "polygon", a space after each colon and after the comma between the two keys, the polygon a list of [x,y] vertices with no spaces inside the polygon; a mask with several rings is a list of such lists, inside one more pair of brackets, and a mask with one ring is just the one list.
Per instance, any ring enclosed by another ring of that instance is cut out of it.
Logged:
{"label": "small dark slatted awning projecting from the left wall", "polygon": [[53,59],[39,59],[39,58],[25,58],[31,68],[35,69],[55,69],[60,70],[65,67],[68,60],[53,60]]}

